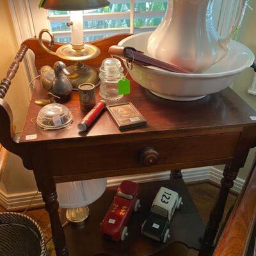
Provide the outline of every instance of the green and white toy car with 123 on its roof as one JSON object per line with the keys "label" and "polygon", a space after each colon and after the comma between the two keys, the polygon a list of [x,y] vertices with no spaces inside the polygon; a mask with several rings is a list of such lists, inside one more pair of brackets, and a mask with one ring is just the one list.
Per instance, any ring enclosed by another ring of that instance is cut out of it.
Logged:
{"label": "green and white toy car with 123 on its roof", "polygon": [[179,209],[180,205],[182,198],[177,192],[161,187],[154,199],[150,214],[141,227],[141,233],[166,243],[170,237],[170,221],[175,209]]}

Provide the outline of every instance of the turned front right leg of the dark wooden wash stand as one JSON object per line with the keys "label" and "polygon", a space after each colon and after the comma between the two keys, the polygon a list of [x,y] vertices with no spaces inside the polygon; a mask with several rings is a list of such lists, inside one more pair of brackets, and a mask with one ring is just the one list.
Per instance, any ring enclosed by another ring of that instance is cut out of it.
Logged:
{"label": "turned front right leg of the dark wooden wash stand", "polygon": [[[225,170],[223,172],[223,179],[221,179],[221,189],[216,200],[216,203],[211,211],[209,222],[207,223],[207,227],[205,228],[204,237],[202,238],[202,247],[211,248],[214,244],[214,239],[218,232],[218,228],[220,225],[220,221],[223,217],[223,213],[225,210],[225,204],[227,201],[228,193],[230,188],[234,186],[234,180],[237,177],[237,173],[239,168],[226,165]],[[200,255],[205,255],[205,253],[200,253]]]}

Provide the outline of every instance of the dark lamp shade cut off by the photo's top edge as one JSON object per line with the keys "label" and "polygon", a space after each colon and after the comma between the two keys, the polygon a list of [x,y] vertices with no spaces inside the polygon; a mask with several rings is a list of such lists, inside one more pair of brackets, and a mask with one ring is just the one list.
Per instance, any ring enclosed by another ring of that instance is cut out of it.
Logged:
{"label": "dark lamp shade cut off by the photo's top edge", "polygon": [[78,11],[108,6],[108,0],[41,0],[39,6],[58,11]]}

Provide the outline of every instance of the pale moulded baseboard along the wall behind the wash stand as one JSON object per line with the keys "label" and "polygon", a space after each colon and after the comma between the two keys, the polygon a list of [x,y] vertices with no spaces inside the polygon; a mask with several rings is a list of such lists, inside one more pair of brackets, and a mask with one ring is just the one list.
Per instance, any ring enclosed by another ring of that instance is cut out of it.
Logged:
{"label": "pale moulded baseboard along the wall behind the wash stand", "polygon": [[[220,184],[220,180],[223,177],[222,173],[223,172],[221,170],[213,166],[182,170],[182,175],[185,182],[210,180],[211,182]],[[120,182],[125,179],[133,180],[138,183],[143,183],[157,180],[167,180],[169,178],[170,171],[111,177],[108,179],[108,186],[118,186]],[[241,189],[243,188],[243,184],[244,180],[237,178],[234,181],[234,187],[232,188],[232,191],[240,193]],[[0,205],[4,207],[4,209],[8,209],[9,211],[22,211],[29,206],[35,194],[36,191],[31,191],[27,193],[6,194],[0,189]],[[38,195],[35,196],[33,202],[31,203],[31,208],[41,207],[43,205],[44,202],[42,201],[42,196],[40,195],[40,193],[38,193]]]}

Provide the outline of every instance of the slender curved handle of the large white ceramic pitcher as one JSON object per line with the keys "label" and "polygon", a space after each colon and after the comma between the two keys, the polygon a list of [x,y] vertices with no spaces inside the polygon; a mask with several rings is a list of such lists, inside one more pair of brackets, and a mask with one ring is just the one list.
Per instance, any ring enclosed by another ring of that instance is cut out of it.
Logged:
{"label": "slender curved handle of the large white ceramic pitcher", "polygon": [[239,28],[241,26],[241,22],[243,20],[244,13],[245,13],[248,1],[249,0],[242,0],[241,1],[240,9],[239,9],[239,14],[237,16],[236,22],[234,23],[234,25],[230,29],[230,31],[228,33],[228,36],[219,39],[221,47],[223,47],[223,49],[225,49],[226,51],[227,51],[227,44],[230,42],[232,36],[234,36],[234,34],[236,33],[237,28]]}

